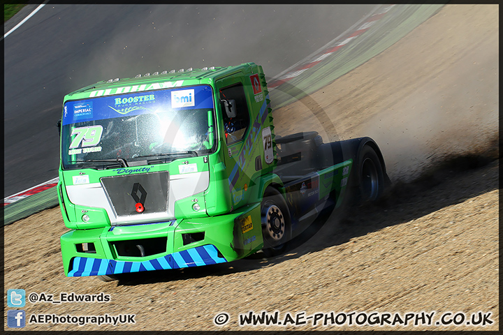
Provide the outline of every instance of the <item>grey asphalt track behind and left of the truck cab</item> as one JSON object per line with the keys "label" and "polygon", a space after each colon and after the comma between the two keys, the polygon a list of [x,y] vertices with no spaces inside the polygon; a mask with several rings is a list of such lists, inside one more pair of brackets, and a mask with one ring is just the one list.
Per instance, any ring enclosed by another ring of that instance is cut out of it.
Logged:
{"label": "grey asphalt track behind and left of the truck cab", "polygon": [[272,77],[372,8],[46,4],[3,39],[4,195],[57,177],[64,94],[115,77],[245,61]]}

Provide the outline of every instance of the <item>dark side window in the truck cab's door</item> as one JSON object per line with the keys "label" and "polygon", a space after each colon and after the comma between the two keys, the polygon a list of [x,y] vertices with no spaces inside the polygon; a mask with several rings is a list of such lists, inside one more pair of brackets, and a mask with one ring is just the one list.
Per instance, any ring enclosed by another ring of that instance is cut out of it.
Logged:
{"label": "dark side window in the truck cab's door", "polygon": [[[220,101],[226,142],[227,144],[238,142],[245,136],[249,126],[249,112],[243,85],[239,83],[220,89]],[[231,105],[235,104],[233,106],[235,113],[231,113],[231,115],[226,112],[226,103],[229,102]]]}

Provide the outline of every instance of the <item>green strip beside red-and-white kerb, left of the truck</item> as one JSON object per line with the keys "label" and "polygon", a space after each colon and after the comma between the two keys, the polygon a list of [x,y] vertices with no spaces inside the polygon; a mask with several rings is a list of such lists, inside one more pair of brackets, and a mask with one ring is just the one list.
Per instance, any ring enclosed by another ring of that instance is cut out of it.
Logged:
{"label": "green strip beside red-and-white kerb, left of the truck", "polygon": [[39,211],[56,207],[58,204],[57,186],[54,186],[3,207],[3,225],[10,225]]}

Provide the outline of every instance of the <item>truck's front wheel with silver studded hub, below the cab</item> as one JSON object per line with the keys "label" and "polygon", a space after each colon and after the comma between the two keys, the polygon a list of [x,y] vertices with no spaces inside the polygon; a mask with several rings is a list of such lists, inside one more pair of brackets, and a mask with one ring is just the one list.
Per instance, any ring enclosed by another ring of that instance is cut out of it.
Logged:
{"label": "truck's front wheel with silver studded hub, below the cab", "polygon": [[265,257],[279,255],[291,238],[291,221],[288,206],[276,188],[265,189],[261,202],[261,224]]}

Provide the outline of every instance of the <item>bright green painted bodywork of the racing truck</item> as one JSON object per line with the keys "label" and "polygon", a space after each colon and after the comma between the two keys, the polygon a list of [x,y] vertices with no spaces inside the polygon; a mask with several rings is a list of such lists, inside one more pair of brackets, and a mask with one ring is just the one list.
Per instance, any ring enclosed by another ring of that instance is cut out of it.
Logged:
{"label": "bright green painted bodywork of the racing truck", "polygon": [[[258,75],[258,77],[252,79],[253,75]],[[255,87],[252,86],[251,80],[255,80]],[[260,82],[260,88],[256,86],[257,80]],[[267,84],[261,66],[247,63],[214,70],[196,69],[185,73],[152,75],[117,82],[99,82],[92,87],[68,94],[64,98],[64,103],[89,99],[90,97],[99,98],[112,94],[124,94],[124,91],[141,89],[147,92],[169,87],[183,89],[201,84],[209,85],[213,91],[215,106],[213,117],[215,119],[213,121],[212,112],[209,111],[208,128],[212,135],[208,137],[207,142],[208,147],[212,147],[211,144],[216,142],[215,151],[203,156],[175,159],[168,161],[168,163],[127,168],[129,175],[168,172],[170,180],[173,180],[173,178],[191,178],[190,172],[181,173],[184,164],[189,164],[187,166],[194,165],[197,167],[197,172],[209,176],[209,184],[204,191],[187,198],[175,199],[174,217],[150,223],[138,221],[137,224],[134,224],[136,223],[135,218],[142,218],[142,214],[137,214],[129,218],[129,225],[115,225],[105,208],[72,204],[68,198],[68,190],[101,189],[103,177],[118,176],[120,172],[124,172],[124,169],[64,170],[63,165],[60,165],[58,198],[64,223],[67,228],[71,229],[61,236],[65,274],[70,271],[69,267],[74,257],[137,262],[154,260],[163,255],[212,244],[230,262],[255,253],[262,248],[260,203],[263,193],[266,188],[275,187],[286,197],[286,191],[282,180],[273,172],[277,163],[274,126]],[[241,140],[227,144],[223,121],[225,111],[221,110],[219,103],[219,100],[224,97],[220,96],[220,91],[234,84],[242,84],[245,104],[249,111],[249,126]],[[257,89],[261,89],[261,92],[256,93]],[[88,129],[92,128],[96,127],[88,127]],[[270,129],[270,137],[268,133],[263,135],[263,130],[267,128]],[[88,138],[89,142],[96,142],[96,138],[101,138],[101,128],[96,133],[91,133],[91,131],[87,131],[87,133],[89,133],[86,135],[87,137],[82,138]],[[271,152],[273,153],[273,157],[268,158],[269,163],[267,163],[264,154],[264,145],[270,147],[268,141],[272,144]],[[74,140],[74,142],[79,141]],[[93,144],[96,145],[94,142]],[[78,147],[78,144],[80,142],[76,143],[75,147]],[[314,198],[319,200],[332,191],[336,191],[337,198],[340,198],[345,189],[344,185],[341,186],[342,169],[350,167],[351,163],[352,161],[347,161],[314,173],[314,178],[320,178],[323,181],[330,179],[328,184],[326,182],[323,186],[320,184],[319,194]],[[90,184],[90,186],[82,184]],[[170,181],[170,187],[173,187],[172,181]],[[194,210],[196,203],[200,207],[197,211]],[[82,220],[84,214],[89,216],[88,222]],[[199,241],[184,244],[182,236],[189,233],[203,233],[204,237]],[[117,255],[115,246],[110,243],[111,241],[154,237],[167,237],[166,253],[156,253],[145,257]],[[96,253],[78,252],[76,246],[82,243],[94,243]]]}

